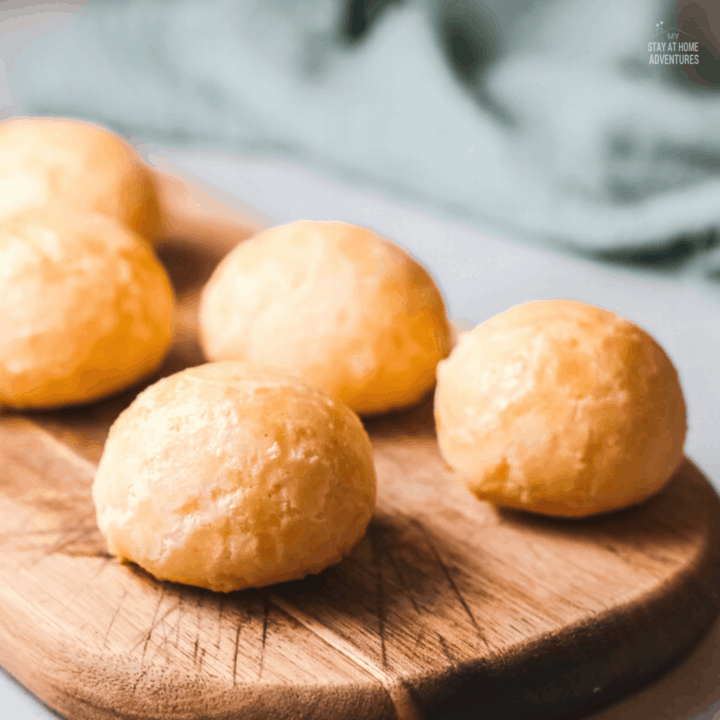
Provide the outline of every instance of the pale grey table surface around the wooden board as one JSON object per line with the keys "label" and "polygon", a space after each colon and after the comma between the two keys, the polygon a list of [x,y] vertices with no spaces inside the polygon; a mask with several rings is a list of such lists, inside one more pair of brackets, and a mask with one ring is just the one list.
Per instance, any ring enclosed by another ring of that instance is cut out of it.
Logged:
{"label": "pale grey table surface around the wooden board", "polygon": [[[687,454],[720,487],[720,296],[677,280],[539,250],[450,214],[431,214],[289,162],[145,150],[159,167],[181,169],[205,191],[266,225],[305,218],[373,228],[426,265],[445,294],[451,317],[463,323],[477,324],[527,300],[557,297],[600,305],[632,319],[652,333],[675,362],[688,403]],[[56,717],[3,673],[0,708],[6,718]],[[720,624],[668,674],[591,717],[720,718]]]}

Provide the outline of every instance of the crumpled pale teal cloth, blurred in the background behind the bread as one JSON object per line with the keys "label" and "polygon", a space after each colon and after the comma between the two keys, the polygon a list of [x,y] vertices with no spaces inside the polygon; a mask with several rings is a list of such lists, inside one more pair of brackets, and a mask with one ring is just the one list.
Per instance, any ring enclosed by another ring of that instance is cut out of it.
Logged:
{"label": "crumpled pale teal cloth, blurred in the background behind the bread", "polygon": [[[697,62],[651,62],[681,21]],[[708,37],[662,0],[94,0],[8,82],[28,114],[281,154],[538,243],[712,277]]]}

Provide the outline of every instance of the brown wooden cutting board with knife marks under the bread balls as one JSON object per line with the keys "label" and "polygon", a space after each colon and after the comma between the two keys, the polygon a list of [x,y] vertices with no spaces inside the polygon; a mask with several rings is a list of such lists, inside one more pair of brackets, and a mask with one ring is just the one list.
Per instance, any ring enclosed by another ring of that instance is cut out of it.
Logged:
{"label": "brown wooden cutting board with knife marks under the bread balls", "polygon": [[[163,375],[202,362],[197,292],[253,229],[182,227],[159,251],[180,302]],[[0,414],[0,663],[73,720],[560,718],[655,676],[718,613],[720,503],[690,462],[604,517],[498,511],[453,480],[431,398],[366,421],[378,510],[342,563],[228,595],[157,582],[107,554],[90,495],[139,389]]]}

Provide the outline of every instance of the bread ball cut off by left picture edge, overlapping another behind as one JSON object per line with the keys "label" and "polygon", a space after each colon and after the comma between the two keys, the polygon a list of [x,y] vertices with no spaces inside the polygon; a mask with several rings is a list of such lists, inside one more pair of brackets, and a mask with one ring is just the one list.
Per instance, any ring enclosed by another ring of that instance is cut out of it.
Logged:
{"label": "bread ball cut off by left picture edge, overlapping another behind", "polygon": [[0,406],[75,405],[162,362],[174,298],[147,244],[104,215],[0,223]]}

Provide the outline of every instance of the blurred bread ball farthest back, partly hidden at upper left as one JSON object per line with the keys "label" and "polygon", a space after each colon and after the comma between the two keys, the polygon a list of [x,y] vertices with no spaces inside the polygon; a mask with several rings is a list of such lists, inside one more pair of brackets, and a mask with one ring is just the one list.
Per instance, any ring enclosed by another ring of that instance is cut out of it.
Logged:
{"label": "blurred bread ball farthest back, partly hidden at upper left", "polygon": [[108,215],[148,241],[158,231],[151,170],[115,133],[66,118],[0,122],[0,222],[52,204]]}

